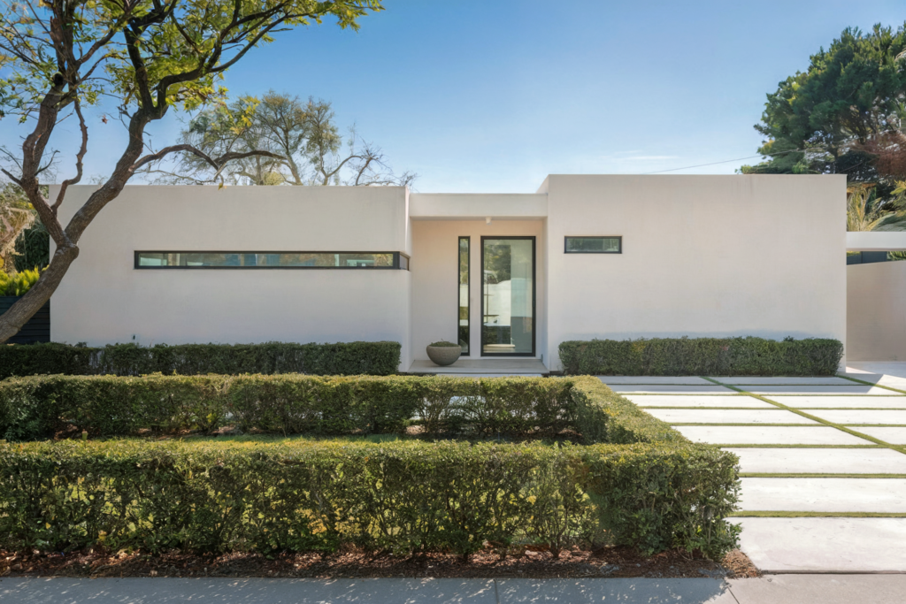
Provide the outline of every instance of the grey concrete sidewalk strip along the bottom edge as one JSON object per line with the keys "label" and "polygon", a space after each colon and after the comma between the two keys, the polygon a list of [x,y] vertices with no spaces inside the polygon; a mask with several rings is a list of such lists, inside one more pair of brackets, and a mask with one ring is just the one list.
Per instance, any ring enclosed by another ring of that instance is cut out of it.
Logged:
{"label": "grey concrete sidewalk strip along the bottom edge", "polygon": [[906,575],[760,579],[3,579],[4,604],[901,604]]}

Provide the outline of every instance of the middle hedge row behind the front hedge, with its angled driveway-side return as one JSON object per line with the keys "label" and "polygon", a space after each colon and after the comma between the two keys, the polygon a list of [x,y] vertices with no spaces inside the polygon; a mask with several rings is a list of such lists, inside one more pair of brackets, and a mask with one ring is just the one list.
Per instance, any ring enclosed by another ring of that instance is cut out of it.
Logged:
{"label": "middle hedge row behind the front hedge, with its angled driveway-side return", "polygon": [[0,435],[173,434],[236,425],[322,436],[386,434],[415,419],[425,436],[555,436],[586,442],[681,439],[596,378],[34,376],[0,382]]}

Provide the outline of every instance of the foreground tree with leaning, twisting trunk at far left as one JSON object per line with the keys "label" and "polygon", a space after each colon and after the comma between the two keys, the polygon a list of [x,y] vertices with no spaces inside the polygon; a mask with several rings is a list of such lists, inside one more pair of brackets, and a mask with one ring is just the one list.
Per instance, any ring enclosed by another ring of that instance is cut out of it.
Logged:
{"label": "foreground tree with leaning, twisting trunk at far left", "polygon": [[[21,0],[0,5],[0,91],[7,116],[30,132],[7,149],[4,173],[22,187],[56,245],[51,263],[21,300],[0,315],[0,342],[46,302],[79,255],[79,239],[140,168],[191,152],[222,170],[231,160],[272,156],[264,149],[211,156],[191,144],[149,149],[145,131],[173,110],[198,110],[226,97],[221,80],[246,54],[278,33],[330,18],[342,28],[381,10],[380,0]],[[82,180],[88,151],[83,105],[109,101],[129,130],[111,174],[74,213],[57,219],[68,187]],[[65,118],[82,134],[71,177],[55,199],[39,178],[53,164],[49,147]]]}

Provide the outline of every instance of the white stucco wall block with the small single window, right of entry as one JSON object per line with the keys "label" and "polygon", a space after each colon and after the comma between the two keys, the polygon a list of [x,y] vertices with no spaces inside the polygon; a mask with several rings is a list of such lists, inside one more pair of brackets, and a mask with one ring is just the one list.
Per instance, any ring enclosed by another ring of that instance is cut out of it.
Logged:
{"label": "white stucco wall block with the small single window, right of entry", "polygon": [[[550,176],[549,369],[564,340],[846,342],[845,177]],[[564,254],[622,235],[622,254]]]}

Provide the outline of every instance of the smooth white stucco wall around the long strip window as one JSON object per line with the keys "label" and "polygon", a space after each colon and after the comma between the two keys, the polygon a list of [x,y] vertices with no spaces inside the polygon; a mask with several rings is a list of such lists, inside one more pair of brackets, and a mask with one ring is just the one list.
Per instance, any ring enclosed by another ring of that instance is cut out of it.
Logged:
{"label": "smooth white stucco wall around the long strip window", "polygon": [[[92,190],[70,187],[63,224]],[[126,187],[82,235],[52,340],[395,340],[408,369],[408,271],[133,268],[136,250],[409,253],[407,204],[402,187]]]}

